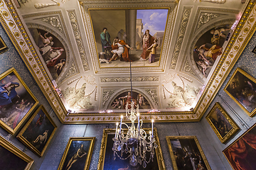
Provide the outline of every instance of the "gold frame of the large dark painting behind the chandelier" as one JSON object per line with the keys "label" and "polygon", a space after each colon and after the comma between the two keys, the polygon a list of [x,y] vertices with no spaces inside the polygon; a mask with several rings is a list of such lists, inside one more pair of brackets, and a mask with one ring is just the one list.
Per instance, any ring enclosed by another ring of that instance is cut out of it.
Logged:
{"label": "gold frame of the large dark painting behind the chandelier", "polygon": [[[151,128],[144,128],[143,130],[146,131],[146,134],[149,134],[149,131],[151,130]],[[101,142],[101,147],[100,147],[100,157],[99,157],[99,162],[97,165],[97,170],[102,170],[104,168],[106,148],[112,147],[112,146],[108,146],[108,144],[107,144],[107,136],[114,135],[114,133],[115,133],[115,129],[104,129],[103,130],[102,142]],[[155,136],[156,145],[157,145],[157,148],[155,149],[155,154],[156,154],[156,159],[157,159],[157,163],[159,166],[159,170],[165,170],[166,166],[164,164],[164,157],[163,157],[163,153],[161,151],[159,136],[157,134],[156,128],[154,128],[154,136]],[[156,160],[154,160],[154,161],[156,161]]]}

